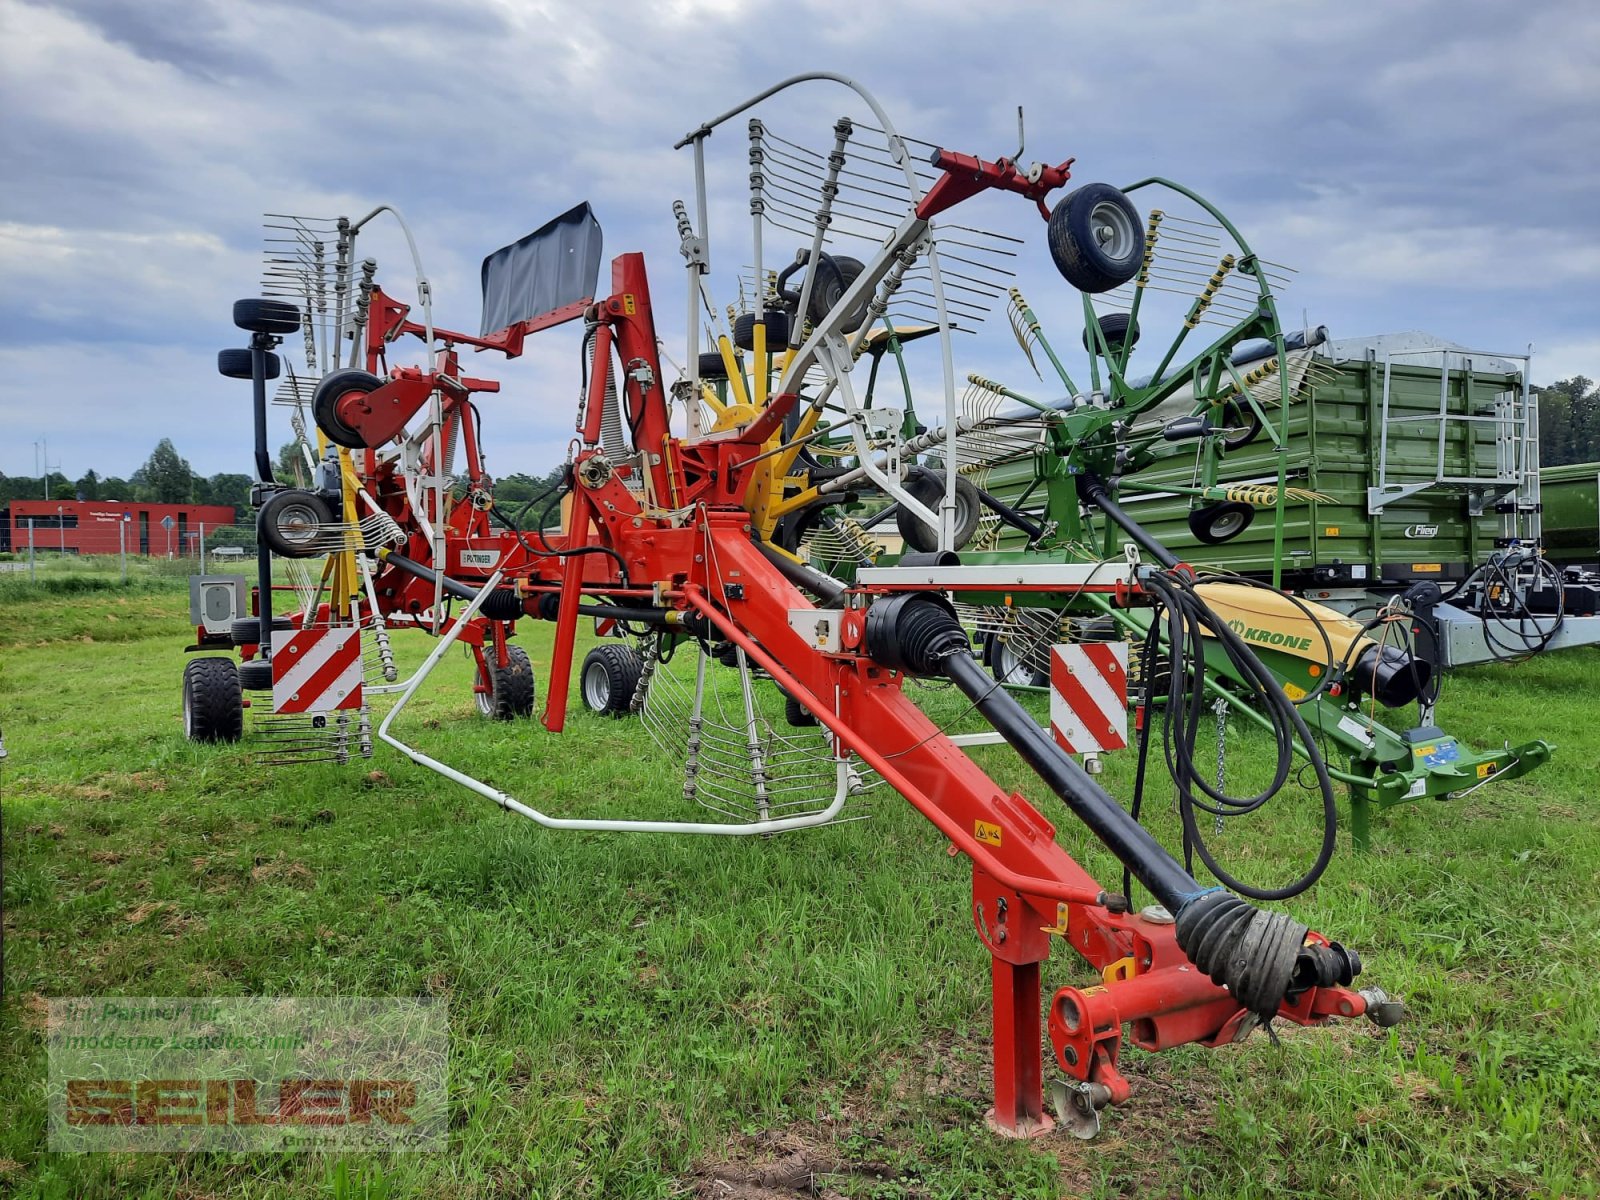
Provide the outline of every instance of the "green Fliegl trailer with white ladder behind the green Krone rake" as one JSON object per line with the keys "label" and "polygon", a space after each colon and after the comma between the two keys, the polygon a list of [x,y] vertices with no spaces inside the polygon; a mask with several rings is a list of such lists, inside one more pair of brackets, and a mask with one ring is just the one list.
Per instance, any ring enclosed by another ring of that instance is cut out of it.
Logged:
{"label": "green Fliegl trailer with white ladder behind the green Krone rake", "polygon": [[[1310,499],[1262,510],[1227,541],[1202,541],[1190,525],[1198,454],[1170,454],[1123,478],[1122,502],[1184,558],[1277,579],[1323,603],[1366,603],[1430,579],[1464,579],[1498,547],[1538,538],[1538,446],[1526,358],[1480,355],[1426,334],[1330,342],[1322,331],[1290,350],[1286,482]],[[1248,370],[1272,362],[1238,362]],[[1270,397],[1275,389],[1262,389]],[[1134,437],[1187,411],[1179,394],[1133,427]],[[1278,426],[1282,413],[1270,413]],[[1278,448],[1258,435],[1222,453],[1216,483],[1275,486]],[[984,486],[1021,501],[1034,478],[1026,459],[994,464]],[[1280,568],[1275,573],[1275,568]]]}

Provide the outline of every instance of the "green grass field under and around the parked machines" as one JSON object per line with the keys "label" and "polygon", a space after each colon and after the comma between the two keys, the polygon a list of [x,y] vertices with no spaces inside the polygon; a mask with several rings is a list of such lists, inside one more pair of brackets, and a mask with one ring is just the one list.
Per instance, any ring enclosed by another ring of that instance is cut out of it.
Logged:
{"label": "green grass field under and around the parked machines", "polygon": [[[112,563],[112,570],[115,565]],[[0,1194],[24,1197],[1594,1197],[1600,1194],[1600,653],[1451,677],[1474,744],[1555,760],[1378,818],[1285,906],[1405,997],[1366,1022],[1125,1051],[1085,1144],[989,1134],[989,976],[970,875],[883,790],[869,821],[765,840],[552,834],[379,747],[270,768],[179,726],[179,579],[0,576],[5,1008]],[[547,627],[522,643],[541,672]],[[397,635],[414,658],[421,634]],[[682,814],[635,722],[565,736],[472,710],[466,661],[403,715],[435,754],[562,814]],[[960,718],[946,693],[938,717]],[[1037,702],[1037,701],[1030,701]],[[971,728],[970,723],[963,728]],[[1120,870],[1010,750],[974,750]],[[1229,733],[1229,771],[1262,746]],[[1104,776],[1126,795],[1131,763]],[[1162,792],[1157,790],[1160,797]],[[1155,803],[1154,824],[1173,818]],[[1285,795],[1219,848],[1291,874]],[[1088,982],[1070,954],[1046,986]],[[448,1154],[54,1155],[43,998],[443,997]],[[1048,1064],[1046,1064],[1048,1069]]]}

